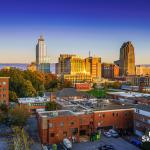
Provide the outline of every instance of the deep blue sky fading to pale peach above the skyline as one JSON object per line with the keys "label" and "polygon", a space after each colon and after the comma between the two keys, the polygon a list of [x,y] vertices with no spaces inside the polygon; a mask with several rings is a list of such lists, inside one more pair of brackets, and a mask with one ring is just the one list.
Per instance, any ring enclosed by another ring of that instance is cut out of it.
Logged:
{"label": "deep blue sky fading to pale peach above the skyline", "polygon": [[150,1],[0,0],[0,63],[35,61],[40,35],[52,62],[89,51],[113,62],[131,41],[136,64],[150,64]]}

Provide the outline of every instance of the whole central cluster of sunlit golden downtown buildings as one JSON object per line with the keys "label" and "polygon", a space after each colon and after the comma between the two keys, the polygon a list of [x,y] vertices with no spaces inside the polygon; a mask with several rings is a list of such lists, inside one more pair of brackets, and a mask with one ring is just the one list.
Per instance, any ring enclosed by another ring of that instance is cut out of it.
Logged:
{"label": "whole central cluster of sunlit golden downtown buildings", "polygon": [[61,54],[58,62],[58,74],[63,79],[75,83],[98,82],[101,80],[101,58],[81,58],[77,55]]}

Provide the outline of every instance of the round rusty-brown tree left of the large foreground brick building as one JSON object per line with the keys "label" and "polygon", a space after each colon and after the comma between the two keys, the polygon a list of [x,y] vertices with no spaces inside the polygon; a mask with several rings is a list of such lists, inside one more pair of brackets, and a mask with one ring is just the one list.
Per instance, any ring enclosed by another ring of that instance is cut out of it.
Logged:
{"label": "round rusty-brown tree left of the large foreground brick building", "polygon": [[26,106],[18,105],[9,111],[9,120],[12,126],[23,127],[26,124],[29,116],[30,113]]}

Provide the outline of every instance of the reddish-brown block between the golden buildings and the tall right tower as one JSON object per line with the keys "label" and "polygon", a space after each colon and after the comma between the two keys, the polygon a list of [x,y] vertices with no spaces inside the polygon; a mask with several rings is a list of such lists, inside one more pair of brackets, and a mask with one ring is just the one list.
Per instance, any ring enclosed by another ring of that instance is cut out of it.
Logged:
{"label": "reddish-brown block between the golden buildings and the tall right tower", "polygon": [[102,77],[114,79],[119,76],[119,66],[115,64],[102,63]]}

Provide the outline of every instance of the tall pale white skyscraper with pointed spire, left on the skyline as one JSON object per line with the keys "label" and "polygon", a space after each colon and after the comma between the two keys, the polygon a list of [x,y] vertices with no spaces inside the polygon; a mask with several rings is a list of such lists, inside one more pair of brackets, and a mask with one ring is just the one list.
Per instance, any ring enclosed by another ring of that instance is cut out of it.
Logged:
{"label": "tall pale white skyscraper with pointed spire, left on the skyline", "polygon": [[42,36],[38,39],[38,43],[36,45],[36,65],[44,63],[46,58],[46,44],[45,40]]}

